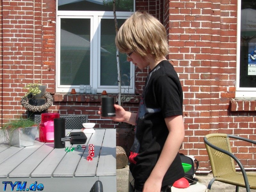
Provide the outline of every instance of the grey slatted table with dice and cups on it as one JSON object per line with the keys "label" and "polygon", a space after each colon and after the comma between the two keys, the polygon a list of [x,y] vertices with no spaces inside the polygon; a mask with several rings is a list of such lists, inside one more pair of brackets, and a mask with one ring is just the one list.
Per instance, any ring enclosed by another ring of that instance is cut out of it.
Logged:
{"label": "grey slatted table with dice and cups on it", "polygon": [[[80,130],[66,130],[68,132]],[[65,148],[54,148],[54,143],[43,143],[36,139],[34,146],[10,147],[0,140],[0,191],[12,191],[11,184],[5,181],[20,181],[21,185],[43,184],[44,192],[89,192],[96,180],[100,180],[104,192],[116,192],[116,130],[95,129],[88,134],[84,145],[94,144],[94,157],[87,161],[88,147],[77,149],[66,140]],[[39,185],[40,186],[40,185]],[[22,186],[20,186],[20,189]],[[13,187],[16,191],[17,185]],[[40,188],[39,188],[40,189]],[[29,189],[30,191],[30,189]],[[36,189],[38,191],[38,189]]]}

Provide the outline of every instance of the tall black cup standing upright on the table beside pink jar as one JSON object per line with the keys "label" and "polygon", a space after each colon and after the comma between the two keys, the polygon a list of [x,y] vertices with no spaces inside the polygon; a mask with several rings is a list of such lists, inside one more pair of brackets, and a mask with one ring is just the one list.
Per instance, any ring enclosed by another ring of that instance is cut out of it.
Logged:
{"label": "tall black cup standing upright on the table beside pink jar", "polygon": [[55,118],[53,119],[53,124],[54,124],[54,148],[65,148],[66,119]]}

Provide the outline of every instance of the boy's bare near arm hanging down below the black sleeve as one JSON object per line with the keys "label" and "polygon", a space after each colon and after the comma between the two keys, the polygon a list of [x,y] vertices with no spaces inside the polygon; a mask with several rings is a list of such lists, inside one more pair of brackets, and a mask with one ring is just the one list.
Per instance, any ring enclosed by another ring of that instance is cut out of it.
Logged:
{"label": "boy's bare near arm hanging down below the black sleeve", "polygon": [[170,116],[164,120],[169,134],[164,143],[161,155],[144,184],[143,192],[160,192],[164,175],[176,157],[184,139],[185,131],[183,117],[181,115]]}

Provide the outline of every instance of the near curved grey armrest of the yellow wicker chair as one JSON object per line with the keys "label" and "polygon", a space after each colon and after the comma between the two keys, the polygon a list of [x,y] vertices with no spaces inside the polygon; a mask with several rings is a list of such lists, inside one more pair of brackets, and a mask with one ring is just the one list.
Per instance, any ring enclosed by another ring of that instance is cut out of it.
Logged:
{"label": "near curved grey armrest of the yellow wicker chair", "polygon": [[[231,135],[232,138],[234,137],[233,135]],[[245,138],[244,138],[245,139]],[[247,139],[246,139],[247,140]],[[245,183],[245,187],[246,187],[246,191],[250,191],[250,185],[249,185],[249,181],[248,181],[248,178],[247,178],[247,175],[246,175],[246,172],[245,172],[245,169],[244,169],[244,166],[242,165],[242,163],[239,161],[239,159],[233,155],[232,153],[222,149],[222,148],[219,148],[219,147],[216,147],[215,145],[212,145],[212,143],[210,143],[206,137],[204,137],[204,143],[207,144],[208,146],[210,146],[211,148],[217,150],[217,151],[220,151],[228,156],[230,156],[231,158],[233,158],[236,163],[239,165],[240,169],[241,169],[241,172],[243,173],[243,177],[244,177],[244,183]]]}

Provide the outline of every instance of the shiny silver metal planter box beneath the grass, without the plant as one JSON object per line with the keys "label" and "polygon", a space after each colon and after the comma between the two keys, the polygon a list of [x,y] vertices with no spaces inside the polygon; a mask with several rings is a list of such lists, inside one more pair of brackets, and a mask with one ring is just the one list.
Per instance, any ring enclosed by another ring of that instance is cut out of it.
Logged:
{"label": "shiny silver metal planter box beneath the grass, without the plant", "polygon": [[10,145],[15,147],[27,147],[34,145],[38,127],[19,128],[14,131],[8,130]]}

